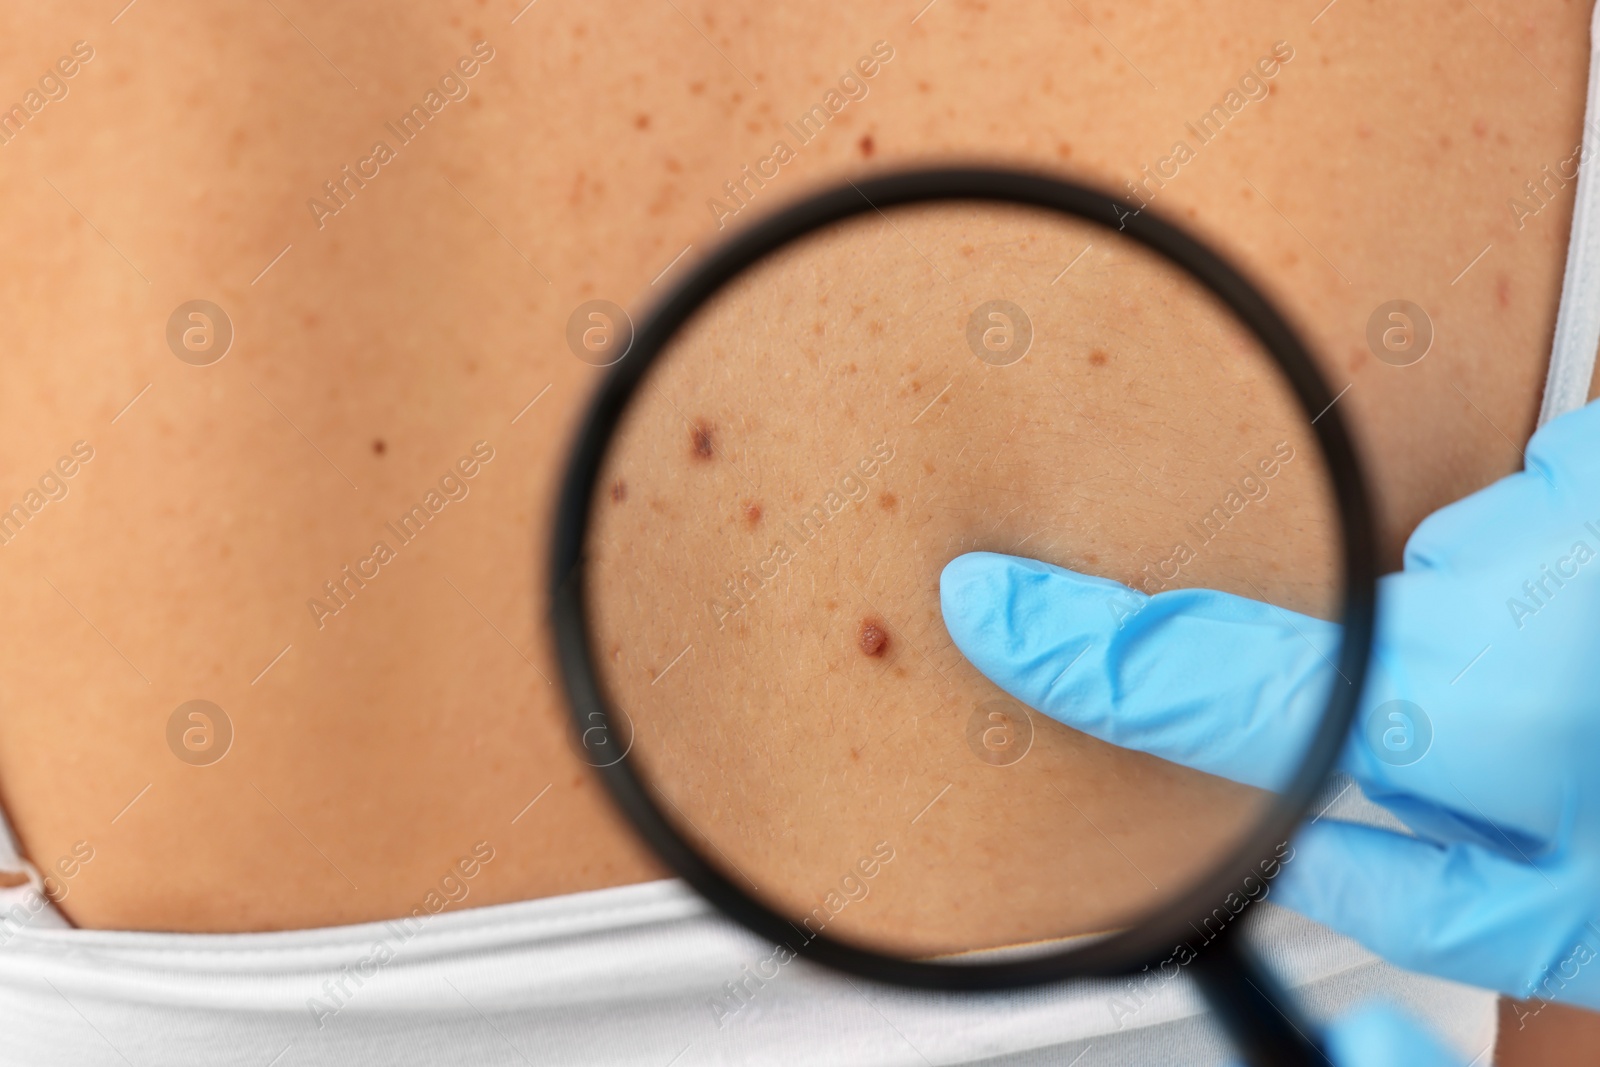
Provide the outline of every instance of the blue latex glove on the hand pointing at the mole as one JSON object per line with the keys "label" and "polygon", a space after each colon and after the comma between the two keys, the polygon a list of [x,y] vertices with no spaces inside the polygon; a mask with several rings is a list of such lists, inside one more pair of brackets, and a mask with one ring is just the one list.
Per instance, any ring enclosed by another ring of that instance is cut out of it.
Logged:
{"label": "blue latex glove on the hand pointing at the mole", "polygon": [[[1600,1008],[1600,406],[1526,459],[1430,515],[1381,581],[1341,766],[1418,837],[1318,819],[1274,899],[1400,966]],[[1293,773],[1344,685],[1338,625],[1229,593],[1146,597],[979,552],[941,597],[957,646],[1019,701],[1256,785]]]}

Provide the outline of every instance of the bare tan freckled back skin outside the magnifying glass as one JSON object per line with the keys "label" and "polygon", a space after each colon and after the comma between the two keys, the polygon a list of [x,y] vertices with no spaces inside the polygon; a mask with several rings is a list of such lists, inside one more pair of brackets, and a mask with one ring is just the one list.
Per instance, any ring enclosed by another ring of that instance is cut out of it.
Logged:
{"label": "bare tan freckled back skin outside the magnifying glass", "polygon": [[[40,867],[93,845],[62,910],[123,929],[384,918],[477,841],[494,859],[467,904],[662,875],[573,752],[530,592],[600,374],[566,320],[594,298],[640,312],[715,240],[706,202],[794,144],[782,123],[878,40],[894,58],[869,96],[725,222],[946,158],[1120,187],[1293,46],[1155,208],[1254,274],[1350,386],[1397,565],[1424,515],[1522,462],[1573,187],[1520,227],[1507,200],[1536,203],[1523,182],[1578,144],[1589,8],[1317,6],[8,10],[3,99],[94,48],[0,146],[0,494],[94,448],[0,549],[0,801]],[[306,202],[478,40],[494,58],[470,96],[318,229]],[[237,331],[206,368],[165,341],[195,298]],[[1398,298],[1437,328],[1406,368],[1365,341]],[[480,440],[470,496],[318,629],[307,598]],[[893,670],[893,627],[869,662],[859,622],[840,625],[853,669]],[[208,768],[166,744],[190,699],[234,725]]]}

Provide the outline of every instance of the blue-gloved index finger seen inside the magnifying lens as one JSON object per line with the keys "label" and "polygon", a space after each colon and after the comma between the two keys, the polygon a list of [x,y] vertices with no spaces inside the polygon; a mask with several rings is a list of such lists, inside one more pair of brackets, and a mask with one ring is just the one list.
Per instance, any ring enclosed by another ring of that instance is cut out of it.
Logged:
{"label": "blue-gloved index finger seen inside the magnifying lens", "polygon": [[1342,630],[1206,589],[1154,597],[992,552],[939,577],[962,653],[1024,704],[1112,744],[1286,785],[1317,731]]}

